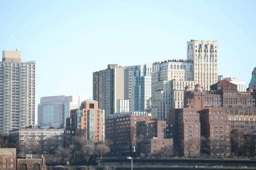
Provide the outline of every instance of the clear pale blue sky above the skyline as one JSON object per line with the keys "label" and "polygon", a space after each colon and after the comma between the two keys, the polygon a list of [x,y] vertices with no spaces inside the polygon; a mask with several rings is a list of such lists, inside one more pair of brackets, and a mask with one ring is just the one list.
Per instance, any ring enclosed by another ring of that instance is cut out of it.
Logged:
{"label": "clear pale blue sky above the skyline", "polygon": [[[36,60],[40,97],[92,98],[93,72],[185,59],[186,42],[218,40],[218,74],[250,82],[256,67],[255,0],[0,1],[0,50]],[[253,52],[254,51],[254,52]]]}

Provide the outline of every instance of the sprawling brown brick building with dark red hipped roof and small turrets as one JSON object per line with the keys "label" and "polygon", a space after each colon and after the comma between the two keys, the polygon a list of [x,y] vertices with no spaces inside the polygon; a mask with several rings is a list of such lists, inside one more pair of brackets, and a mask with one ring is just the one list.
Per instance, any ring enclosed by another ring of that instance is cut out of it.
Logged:
{"label": "sprawling brown brick building with dark red hipped roof and small turrets", "polygon": [[256,92],[247,88],[247,92],[239,92],[237,85],[221,80],[210,86],[211,91],[202,91],[200,85],[195,91],[186,87],[184,107],[224,109],[228,114],[231,129],[242,129],[256,125]]}

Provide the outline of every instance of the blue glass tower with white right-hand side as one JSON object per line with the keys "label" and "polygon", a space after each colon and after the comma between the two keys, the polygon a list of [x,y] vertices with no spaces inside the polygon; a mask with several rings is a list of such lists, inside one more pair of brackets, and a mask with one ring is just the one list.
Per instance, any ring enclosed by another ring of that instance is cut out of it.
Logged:
{"label": "blue glass tower with white right-hand side", "polygon": [[151,97],[152,64],[124,68],[131,69],[131,111],[145,111]]}

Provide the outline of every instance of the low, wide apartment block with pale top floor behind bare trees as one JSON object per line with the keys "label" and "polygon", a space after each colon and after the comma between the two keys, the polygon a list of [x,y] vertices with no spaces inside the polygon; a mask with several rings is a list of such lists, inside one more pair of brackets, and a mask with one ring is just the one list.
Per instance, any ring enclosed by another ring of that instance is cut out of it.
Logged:
{"label": "low, wide apartment block with pale top floor behind bare trees", "polygon": [[19,129],[9,132],[10,142],[18,144],[18,155],[23,154],[52,154],[61,140],[63,129]]}

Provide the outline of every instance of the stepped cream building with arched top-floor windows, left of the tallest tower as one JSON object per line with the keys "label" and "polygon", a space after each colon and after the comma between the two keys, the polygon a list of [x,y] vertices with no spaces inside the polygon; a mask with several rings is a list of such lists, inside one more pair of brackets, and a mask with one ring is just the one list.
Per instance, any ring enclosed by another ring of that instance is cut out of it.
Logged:
{"label": "stepped cream building with arched top-floor windows, left of the tallest tower", "polygon": [[152,71],[151,111],[152,118],[168,119],[172,108],[183,108],[183,90],[195,86],[193,81],[193,62],[168,60],[155,62]]}

